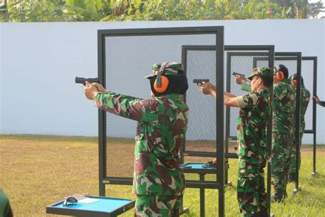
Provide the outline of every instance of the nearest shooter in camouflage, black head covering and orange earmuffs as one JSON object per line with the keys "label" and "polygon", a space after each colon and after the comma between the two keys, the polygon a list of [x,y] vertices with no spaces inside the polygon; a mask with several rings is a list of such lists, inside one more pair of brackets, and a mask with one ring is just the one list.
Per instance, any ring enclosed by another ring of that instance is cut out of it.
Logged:
{"label": "nearest shooter in camouflage, black head covering and orange earmuffs", "polygon": [[94,100],[99,109],[138,122],[135,216],[179,216],[182,207],[185,180],[178,155],[188,122],[189,108],[183,100],[188,84],[182,65],[167,62],[160,73],[169,84],[164,92],[157,91],[155,81],[160,66],[155,64],[153,73],[146,77],[152,89],[153,98],[149,100],[106,91],[97,83],[87,82],[85,87],[86,97]]}

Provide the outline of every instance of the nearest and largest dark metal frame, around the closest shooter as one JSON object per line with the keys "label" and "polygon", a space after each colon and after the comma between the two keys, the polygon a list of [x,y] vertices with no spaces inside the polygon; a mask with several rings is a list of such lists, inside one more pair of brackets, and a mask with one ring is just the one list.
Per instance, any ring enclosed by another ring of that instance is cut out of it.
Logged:
{"label": "nearest and largest dark metal frame, around the closest shooter", "polygon": [[[143,38],[145,46],[148,46],[148,37],[160,37],[160,36],[192,36],[201,39],[205,35],[213,35],[215,37],[214,43],[206,43],[207,45],[213,45],[217,54],[215,58],[215,76],[220,78],[217,82],[217,92],[224,92],[224,27],[223,26],[208,26],[208,27],[170,27],[170,28],[148,28],[148,29],[127,29],[127,30],[98,30],[97,42],[98,42],[98,78],[101,84],[106,87],[106,67],[108,65],[107,54],[110,52],[110,47],[107,46],[107,40],[110,38],[132,38],[133,36]],[[196,42],[196,41],[195,41]],[[200,44],[202,41],[197,41],[195,44]],[[188,45],[189,43],[184,43]],[[149,47],[148,47],[149,48]],[[157,48],[155,48],[157,50]],[[180,54],[181,54],[180,47]],[[149,49],[148,49],[149,50]],[[159,49],[158,49],[159,50]],[[117,56],[119,54],[116,54]],[[180,55],[180,61],[182,55]],[[131,60],[132,61],[132,60]],[[160,60],[160,62],[163,60]],[[154,64],[155,62],[152,62]],[[143,75],[145,76],[145,75]],[[220,95],[215,106],[216,114],[216,126],[219,128],[216,134],[215,146],[217,150],[217,159],[224,159],[224,96]],[[130,177],[119,177],[119,176],[107,176],[106,172],[108,169],[107,159],[107,144],[108,137],[106,136],[106,128],[108,128],[108,115],[105,111],[98,111],[99,117],[99,195],[105,196],[106,188],[105,185],[132,185],[132,178]],[[133,173],[133,171],[132,171]],[[186,181],[186,187],[206,187],[210,189],[218,189],[219,191],[219,216],[224,216],[225,205],[224,205],[224,174],[225,165],[223,161],[217,161],[217,174],[216,181]]]}

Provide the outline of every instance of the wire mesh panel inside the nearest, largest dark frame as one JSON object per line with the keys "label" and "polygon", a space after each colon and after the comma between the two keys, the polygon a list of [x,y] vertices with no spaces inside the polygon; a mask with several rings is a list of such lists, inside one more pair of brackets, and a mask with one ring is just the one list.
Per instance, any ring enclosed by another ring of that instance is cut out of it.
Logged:
{"label": "wire mesh panel inside the nearest, largest dark frame", "polygon": [[[182,62],[182,45],[216,45],[216,40],[215,34],[106,36],[106,89],[150,98],[149,80],[143,77],[152,73],[155,62]],[[193,85],[189,79],[189,91],[191,89]],[[196,87],[195,91],[198,92]],[[106,114],[106,126],[106,177],[131,178],[136,122]],[[193,125],[189,124],[189,128]]]}

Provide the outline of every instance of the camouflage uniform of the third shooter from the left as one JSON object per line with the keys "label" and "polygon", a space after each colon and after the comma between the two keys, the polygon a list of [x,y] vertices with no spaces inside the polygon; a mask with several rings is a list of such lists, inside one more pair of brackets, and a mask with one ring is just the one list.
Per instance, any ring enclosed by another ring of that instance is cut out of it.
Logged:
{"label": "camouflage uniform of the third shooter from the left", "polygon": [[287,186],[296,92],[289,79],[274,84],[272,116],[272,177],[275,194],[282,200]]}

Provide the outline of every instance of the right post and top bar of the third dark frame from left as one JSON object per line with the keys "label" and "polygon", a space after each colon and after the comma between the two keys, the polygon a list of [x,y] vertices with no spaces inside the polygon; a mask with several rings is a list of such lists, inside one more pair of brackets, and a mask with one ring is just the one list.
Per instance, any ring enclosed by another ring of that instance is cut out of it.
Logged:
{"label": "right post and top bar of the third dark frame from left", "polygon": [[[254,62],[254,66],[257,66],[257,60]],[[295,189],[292,194],[297,194],[298,191],[301,190],[299,186],[299,165],[300,165],[300,104],[301,104],[301,67],[302,67],[302,53],[301,52],[275,52],[274,60],[296,60],[297,61],[297,87],[296,87],[296,180],[295,180]],[[315,62],[314,62],[315,64]],[[315,105],[313,105],[314,107]]]}

